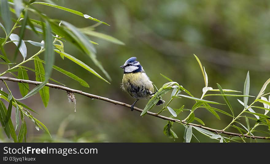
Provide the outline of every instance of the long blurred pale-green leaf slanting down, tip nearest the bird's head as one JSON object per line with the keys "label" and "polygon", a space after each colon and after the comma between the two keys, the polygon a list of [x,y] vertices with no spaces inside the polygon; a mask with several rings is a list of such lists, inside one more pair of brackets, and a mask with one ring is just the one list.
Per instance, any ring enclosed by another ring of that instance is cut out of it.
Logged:
{"label": "long blurred pale-green leaf slanting down, tip nearest the bird's head", "polygon": [[73,34],[79,39],[77,40],[77,43],[81,46],[81,48],[84,50],[84,52],[92,59],[92,61],[95,63],[95,65],[102,71],[102,73],[105,74],[105,76],[111,80],[111,77],[109,74],[105,71],[101,63],[96,58],[96,50],[92,43],[89,42],[89,39],[82,34],[75,26],[72,24],[62,21],[62,24],[64,24],[69,30],[73,32]]}

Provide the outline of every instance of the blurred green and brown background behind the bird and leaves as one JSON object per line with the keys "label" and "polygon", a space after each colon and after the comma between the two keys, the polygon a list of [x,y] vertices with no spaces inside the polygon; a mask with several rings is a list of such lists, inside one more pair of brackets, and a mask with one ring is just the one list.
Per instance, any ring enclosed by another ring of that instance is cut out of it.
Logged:
{"label": "blurred green and brown background behind the bird and leaves", "polygon": [[[205,66],[209,86],[217,88],[219,83],[223,89],[243,91],[247,71],[250,73],[250,95],[257,96],[264,82],[270,77],[270,1],[246,0],[58,0],[57,5],[78,10],[88,14],[110,26],[99,25],[96,31],[103,32],[121,40],[125,45],[116,45],[95,37],[91,40],[95,45],[97,58],[112,77],[107,84],[96,76],[69,60],[62,60],[56,55],[55,65],[74,73],[87,81],[90,88],[84,88],[78,82],[58,72],[52,78],[66,84],[67,87],[100,95],[117,101],[132,104],[134,99],[122,91],[123,70],[119,68],[125,60],[136,56],[145,72],[160,88],[167,82],[160,73],[183,85],[195,97],[201,97],[204,87],[203,76],[194,58],[196,54]],[[49,6],[36,5],[38,9],[53,19],[68,21],[79,28],[95,24],[94,21],[77,15],[54,9]],[[15,32],[18,34],[18,29]],[[0,33],[4,35],[3,32]],[[32,31],[26,31],[24,40],[41,41]],[[26,43],[28,55],[34,54],[38,48]],[[6,45],[7,54],[13,54],[14,44]],[[104,76],[92,63],[90,58],[81,54],[71,43],[64,43],[64,50],[90,65]],[[43,54],[41,54],[43,58]],[[21,60],[21,56],[18,61]],[[33,63],[27,66],[34,68]],[[2,67],[2,66],[1,66]],[[0,68],[0,72],[5,68]],[[28,71],[29,79],[35,80],[35,74]],[[52,82],[53,83],[53,82]],[[8,82],[14,97],[20,92],[16,83]],[[0,87],[4,87],[1,83]],[[31,86],[33,87],[33,86]],[[5,90],[6,91],[6,90]],[[267,89],[266,92],[269,92]],[[50,101],[45,109],[39,94],[23,102],[36,110],[33,114],[47,126],[52,138],[42,130],[37,131],[31,121],[27,121],[28,142],[183,142],[184,127],[174,124],[173,130],[178,139],[172,140],[163,134],[167,121],[156,117],[141,117],[137,111],[114,105],[109,102],[92,100],[82,95],[75,95],[74,104],[68,102],[64,91],[50,88]],[[168,101],[170,92],[164,96]],[[208,100],[224,103],[222,97],[206,97]],[[229,97],[234,112],[239,114],[243,106],[234,97]],[[243,98],[240,98],[243,99]],[[252,98],[249,99],[253,101]],[[140,100],[136,106],[144,108],[147,100]],[[170,105],[173,108],[191,108],[194,101],[176,99]],[[227,106],[218,107],[228,113]],[[161,107],[155,107],[158,112]],[[13,113],[14,114],[14,113]],[[167,112],[162,113],[169,116]],[[196,110],[195,117],[204,121],[206,126],[223,129],[231,118],[220,114],[218,120],[207,110]],[[181,113],[185,118],[187,113]],[[252,116],[252,115],[251,115]],[[14,121],[14,115],[12,115]],[[245,123],[245,120],[240,120]],[[194,121],[194,123],[198,123]],[[251,125],[254,124],[250,121]],[[229,128],[231,132],[237,132]],[[0,141],[11,142],[0,130]],[[200,142],[218,142],[201,135],[193,129]],[[256,134],[256,133],[255,133]],[[198,142],[194,137],[191,142]],[[253,140],[254,142],[254,140]],[[257,142],[267,142],[257,140]]]}

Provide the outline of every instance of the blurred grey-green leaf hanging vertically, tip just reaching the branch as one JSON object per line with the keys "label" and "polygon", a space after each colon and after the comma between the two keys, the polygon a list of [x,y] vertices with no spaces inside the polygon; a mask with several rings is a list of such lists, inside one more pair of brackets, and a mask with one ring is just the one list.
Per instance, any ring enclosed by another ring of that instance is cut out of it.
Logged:
{"label": "blurred grey-green leaf hanging vertically, tip just reaching the branch", "polygon": [[45,30],[45,81],[48,81],[49,77],[52,73],[52,65],[54,63],[54,52],[53,52],[53,44],[52,44],[52,34],[51,34],[51,26],[47,20],[45,20],[46,23],[46,30]]}

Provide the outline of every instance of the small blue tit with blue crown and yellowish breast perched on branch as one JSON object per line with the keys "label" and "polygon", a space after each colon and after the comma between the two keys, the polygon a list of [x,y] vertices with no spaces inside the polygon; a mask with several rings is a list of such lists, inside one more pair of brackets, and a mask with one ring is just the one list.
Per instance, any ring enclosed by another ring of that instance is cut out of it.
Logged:
{"label": "small blue tit with blue crown and yellowish breast perched on branch", "polygon": [[[150,81],[140,62],[136,61],[136,59],[136,57],[131,57],[125,61],[124,65],[120,66],[120,68],[124,69],[122,89],[136,99],[131,105],[131,111],[139,99],[151,99],[155,94],[152,81]],[[156,105],[159,106],[164,102],[160,99]]]}

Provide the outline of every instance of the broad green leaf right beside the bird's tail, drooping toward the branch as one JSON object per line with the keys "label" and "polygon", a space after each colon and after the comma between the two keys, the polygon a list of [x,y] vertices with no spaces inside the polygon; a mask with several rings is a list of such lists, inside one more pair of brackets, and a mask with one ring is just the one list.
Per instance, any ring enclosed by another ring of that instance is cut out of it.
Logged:
{"label": "broad green leaf right beside the bird's tail, drooping toward the branch", "polygon": [[166,94],[168,91],[170,91],[172,89],[172,87],[169,88],[160,88],[155,95],[153,95],[153,97],[148,101],[148,103],[146,104],[144,110],[141,112],[141,116],[144,116],[148,110],[152,109],[153,106],[156,105],[156,103],[160,100],[160,98]]}

